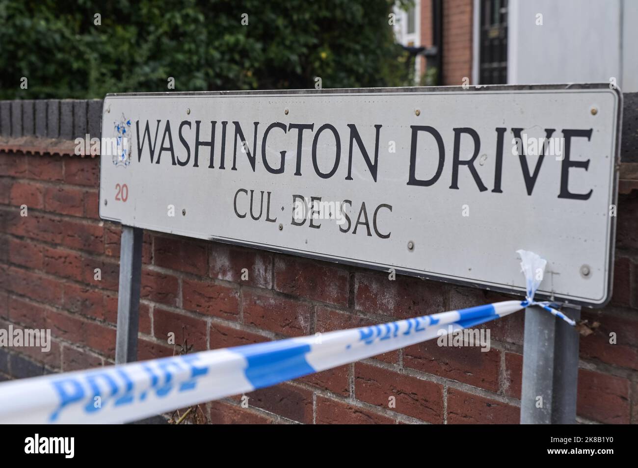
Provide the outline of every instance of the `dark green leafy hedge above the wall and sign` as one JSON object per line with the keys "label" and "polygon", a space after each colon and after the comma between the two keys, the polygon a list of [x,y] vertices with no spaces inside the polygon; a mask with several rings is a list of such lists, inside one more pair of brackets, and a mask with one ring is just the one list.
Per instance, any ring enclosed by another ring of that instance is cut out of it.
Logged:
{"label": "dark green leafy hedge above the wall and sign", "polygon": [[408,85],[392,3],[1,0],[0,98]]}

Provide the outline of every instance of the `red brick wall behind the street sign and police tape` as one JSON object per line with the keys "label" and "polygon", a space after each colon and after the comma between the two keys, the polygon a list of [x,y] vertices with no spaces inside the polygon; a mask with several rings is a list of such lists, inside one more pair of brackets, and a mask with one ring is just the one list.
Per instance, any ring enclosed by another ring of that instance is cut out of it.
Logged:
{"label": "red brick wall behind the street sign and police tape", "polygon": [[[0,348],[0,380],[114,362],[120,228],[98,217],[98,176],[98,159],[0,151],[0,328],[54,338],[49,353]],[[583,312],[600,323],[581,338],[584,422],[638,423],[637,191],[620,196],[616,247],[611,304]],[[202,351],[509,298],[151,231],[143,262],[140,359],[172,355],[169,332]],[[486,326],[487,353],[426,342],[203,408],[213,423],[517,423],[523,313]]]}

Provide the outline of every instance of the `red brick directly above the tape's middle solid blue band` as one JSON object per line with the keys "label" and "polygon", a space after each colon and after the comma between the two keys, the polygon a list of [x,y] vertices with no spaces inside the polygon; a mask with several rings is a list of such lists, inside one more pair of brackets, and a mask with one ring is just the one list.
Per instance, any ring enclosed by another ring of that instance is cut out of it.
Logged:
{"label": "red brick directly above the tape's middle solid blue band", "polygon": [[313,306],[296,300],[242,289],[244,323],[286,336],[310,333]]}

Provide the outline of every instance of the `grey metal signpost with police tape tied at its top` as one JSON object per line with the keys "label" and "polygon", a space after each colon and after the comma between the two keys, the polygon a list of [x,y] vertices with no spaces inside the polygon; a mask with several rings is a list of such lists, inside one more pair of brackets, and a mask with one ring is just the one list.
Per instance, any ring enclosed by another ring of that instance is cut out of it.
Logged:
{"label": "grey metal signpost with police tape tied at its top", "polygon": [[[574,320],[581,308],[562,311]],[[579,334],[538,306],[525,309],[521,424],[574,424]]]}

